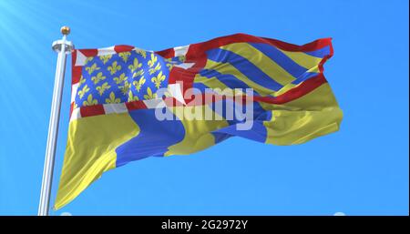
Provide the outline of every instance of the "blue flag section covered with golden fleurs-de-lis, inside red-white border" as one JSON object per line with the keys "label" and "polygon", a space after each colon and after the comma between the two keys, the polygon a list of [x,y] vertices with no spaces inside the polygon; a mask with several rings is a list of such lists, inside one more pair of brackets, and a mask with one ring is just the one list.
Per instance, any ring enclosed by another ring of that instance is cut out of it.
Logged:
{"label": "blue flag section covered with golden fleurs-de-lis, inside red-white border", "polygon": [[165,59],[141,49],[86,60],[75,107],[158,98],[157,90],[168,86],[170,70],[181,63],[179,57]]}

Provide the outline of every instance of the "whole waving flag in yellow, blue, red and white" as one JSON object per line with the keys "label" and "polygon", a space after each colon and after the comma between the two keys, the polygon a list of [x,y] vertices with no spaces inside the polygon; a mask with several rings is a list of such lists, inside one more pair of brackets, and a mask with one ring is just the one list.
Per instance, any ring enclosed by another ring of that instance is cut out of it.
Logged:
{"label": "whole waving flag in yellow, blue, red and white", "polygon": [[112,46],[72,55],[55,209],[134,160],[187,155],[229,137],[300,144],[342,121],[323,76],[329,38],[295,46],[239,34],[159,52]]}

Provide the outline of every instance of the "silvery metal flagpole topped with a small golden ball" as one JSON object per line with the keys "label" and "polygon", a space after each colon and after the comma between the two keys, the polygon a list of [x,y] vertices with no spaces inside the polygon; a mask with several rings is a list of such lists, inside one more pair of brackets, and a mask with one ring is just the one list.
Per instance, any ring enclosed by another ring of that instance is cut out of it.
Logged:
{"label": "silvery metal flagpole topped with a small golden ball", "polygon": [[50,122],[48,124],[48,136],[46,145],[46,158],[44,162],[43,181],[41,184],[40,202],[38,205],[38,216],[47,216],[51,186],[53,180],[54,159],[56,158],[56,142],[58,135],[58,122],[60,119],[61,97],[63,95],[64,75],[66,73],[67,54],[71,53],[74,48],[70,41],[67,41],[67,35],[70,28],[61,27],[63,38],[53,42],[53,50],[58,53],[56,63],[56,77],[54,83],[53,100],[51,102]]}

